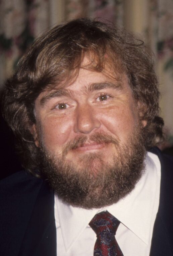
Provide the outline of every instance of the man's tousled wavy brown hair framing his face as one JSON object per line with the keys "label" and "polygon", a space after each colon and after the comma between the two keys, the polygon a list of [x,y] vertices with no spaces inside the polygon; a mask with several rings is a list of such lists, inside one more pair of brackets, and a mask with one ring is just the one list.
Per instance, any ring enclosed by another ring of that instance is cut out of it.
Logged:
{"label": "man's tousled wavy brown hair framing his face", "polygon": [[17,138],[22,165],[33,174],[40,165],[31,131],[36,122],[35,100],[44,90],[75,78],[86,55],[92,56],[88,69],[101,72],[109,62],[115,74],[127,75],[133,97],[141,105],[140,118],[147,121],[143,129],[146,149],[163,138],[158,82],[149,49],[125,30],[87,18],[73,20],[38,38],[6,82],[3,115]]}

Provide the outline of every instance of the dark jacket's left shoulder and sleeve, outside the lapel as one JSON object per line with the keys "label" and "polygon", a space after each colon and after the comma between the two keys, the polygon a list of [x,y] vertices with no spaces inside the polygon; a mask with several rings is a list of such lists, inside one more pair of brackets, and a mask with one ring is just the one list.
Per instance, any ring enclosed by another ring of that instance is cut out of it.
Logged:
{"label": "dark jacket's left shoulder and sleeve, outside the lapel", "polygon": [[0,255],[18,255],[44,181],[25,171],[0,181]]}

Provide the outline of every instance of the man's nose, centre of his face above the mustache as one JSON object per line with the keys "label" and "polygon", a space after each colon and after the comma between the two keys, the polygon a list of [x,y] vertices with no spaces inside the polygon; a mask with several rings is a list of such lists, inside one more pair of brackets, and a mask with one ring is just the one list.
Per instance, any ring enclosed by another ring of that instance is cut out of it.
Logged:
{"label": "man's nose, centre of his face above the mustache", "polygon": [[88,134],[94,129],[99,128],[100,125],[97,113],[93,107],[84,104],[77,108],[74,132]]}

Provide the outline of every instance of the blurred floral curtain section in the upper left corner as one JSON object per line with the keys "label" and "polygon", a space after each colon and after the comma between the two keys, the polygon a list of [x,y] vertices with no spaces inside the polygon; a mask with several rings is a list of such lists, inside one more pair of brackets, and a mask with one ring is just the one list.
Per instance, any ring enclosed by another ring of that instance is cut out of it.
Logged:
{"label": "blurred floral curtain section in the upper left corner", "polygon": [[48,0],[0,0],[0,84],[48,26]]}

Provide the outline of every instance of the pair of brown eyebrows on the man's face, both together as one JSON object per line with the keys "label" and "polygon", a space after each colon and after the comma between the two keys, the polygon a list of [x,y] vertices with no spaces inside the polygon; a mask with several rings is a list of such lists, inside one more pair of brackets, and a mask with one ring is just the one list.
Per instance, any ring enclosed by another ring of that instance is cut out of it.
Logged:
{"label": "pair of brown eyebrows on the man's face, both together", "polygon": [[[123,86],[122,83],[111,83],[111,82],[103,82],[103,83],[92,83],[90,85],[87,85],[84,87],[84,92],[94,92],[94,91],[99,91],[102,89],[106,89],[106,88],[113,88],[116,90],[122,90]],[[62,89],[57,89],[55,91],[50,92],[49,94],[43,96],[40,100],[40,104],[43,106],[49,99],[51,98],[56,98],[56,97],[70,97],[72,95],[72,92],[70,92],[70,90],[67,90],[65,88]]]}

